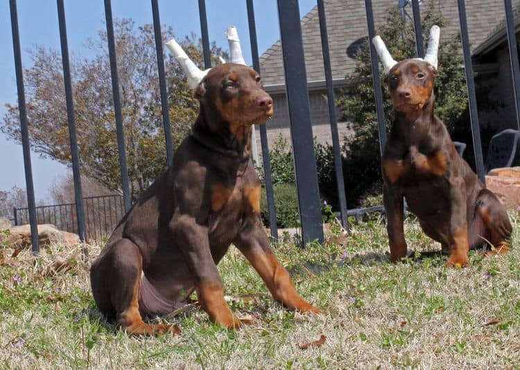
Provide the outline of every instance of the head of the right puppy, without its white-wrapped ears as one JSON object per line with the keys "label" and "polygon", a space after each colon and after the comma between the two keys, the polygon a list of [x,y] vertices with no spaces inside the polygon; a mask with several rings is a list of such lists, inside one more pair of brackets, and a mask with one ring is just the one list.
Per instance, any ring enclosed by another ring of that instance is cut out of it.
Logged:
{"label": "head of the right puppy, without its white-wrapped ears", "polygon": [[386,76],[392,104],[397,112],[414,114],[430,100],[439,73],[428,62],[406,59],[395,64]]}

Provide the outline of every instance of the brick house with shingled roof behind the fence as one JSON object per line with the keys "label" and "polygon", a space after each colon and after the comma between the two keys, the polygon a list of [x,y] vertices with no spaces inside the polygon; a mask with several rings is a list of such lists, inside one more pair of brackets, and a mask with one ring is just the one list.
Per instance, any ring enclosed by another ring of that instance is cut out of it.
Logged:
{"label": "brick house with shingled roof behind the fence", "polygon": [[[422,8],[425,3],[430,1],[435,2],[435,6],[438,7],[443,17],[449,21],[449,26],[441,30],[441,38],[451,37],[458,33],[457,2],[454,0],[424,0],[422,1]],[[376,28],[377,24],[385,21],[388,16],[388,10],[393,6],[397,6],[397,3],[397,0],[372,1]],[[514,3],[517,3],[517,1],[514,1]],[[406,11],[411,15],[410,6],[406,7]],[[510,85],[510,69],[508,60],[505,60],[505,57],[508,58],[507,42],[504,41],[505,30],[501,33],[498,29],[499,27],[497,28],[497,24],[504,18],[503,1],[466,0],[466,12],[471,51],[475,54],[477,50],[479,57],[474,59],[475,71],[483,73],[483,75],[488,77],[480,78],[480,82],[492,84],[500,80],[502,85],[507,83]],[[347,84],[345,76],[354,71],[356,51],[367,40],[365,3],[363,0],[326,0],[325,13],[329,34],[333,86],[340,88]],[[308,12],[302,18],[301,24],[313,134],[318,137],[320,142],[331,143],[318,8],[314,7]],[[493,33],[494,30],[496,35]],[[490,34],[491,36],[489,36]],[[504,43],[505,51],[503,48]],[[442,53],[442,50],[440,52]],[[501,59],[500,61],[493,61],[494,58]],[[281,43],[279,41],[275,42],[261,55],[260,70],[263,85],[272,96],[275,105],[275,116],[266,123],[269,141],[272,143],[272,140],[276,139],[280,133],[289,139],[290,131],[284,85],[284,66]],[[508,71],[509,75],[507,76]],[[489,78],[494,78],[494,80]],[[500,88],[497,89],[500,90]],[[509,96],[511,90],[502,89],[500,91],[503,95],[501,95],[501,98],[503,98],[507,106],[512,102],[512,96]],[[508,109],[508,113],[514,114],[514,109]],[[480,112],[479,114],[483,115],[484,125],[491,124],[491,121],[494,119],[494,116],[489,116],[487,112]],[[341,117],[340,112],[337,112],[336,116],[339,120]],[[349,134],[348,123],[346,121],[338,121],[338,130],[340,139],[343,139],[345,134]],[[259,135],[257,135],[257,148],[259,148],[260,152]]]}

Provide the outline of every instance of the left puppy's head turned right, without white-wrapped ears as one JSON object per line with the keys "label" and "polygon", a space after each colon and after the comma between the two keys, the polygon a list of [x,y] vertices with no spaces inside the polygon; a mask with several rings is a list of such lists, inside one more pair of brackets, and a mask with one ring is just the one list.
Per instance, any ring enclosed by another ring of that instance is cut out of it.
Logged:
{"label": "left puppy's head turned right, without white-wrapped ears", "polygon": [[260,76],[241,64],[219,64],[195,90],[206,114],[216,115],[235,133],[272,117],[272,98],[263,90]]}

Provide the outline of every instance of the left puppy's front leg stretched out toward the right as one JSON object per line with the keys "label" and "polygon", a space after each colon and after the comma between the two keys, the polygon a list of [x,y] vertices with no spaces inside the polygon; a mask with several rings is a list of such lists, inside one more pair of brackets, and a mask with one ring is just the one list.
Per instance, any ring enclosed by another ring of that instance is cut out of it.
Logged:
{"label": "left puppy's front leg stretched out toward the right", "polygon": [[246,221],[245,227],[233,244],[240,249],[245,258],[248,258],[254,270],[257,270],[266,283],[272,297],[279,303],[289,310],[322,313],[322,310],[306,302],[296,291],[291,276],[272,253],[259,218],[252,216]]}

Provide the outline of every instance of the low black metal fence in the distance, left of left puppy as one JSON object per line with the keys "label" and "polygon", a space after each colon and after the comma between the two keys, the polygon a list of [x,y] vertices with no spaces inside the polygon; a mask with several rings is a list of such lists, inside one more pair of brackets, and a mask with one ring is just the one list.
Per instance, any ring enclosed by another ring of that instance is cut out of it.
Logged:
{"label": "low black metal fence in the distance, left of left puppy", "polygon": [[[85,240],[93,242],[110,235],[117,222],[125,214],[123,197],[119,194],[84,197]],[[37,206],[35,213],[38,224],[53,224],[60,230],[78,234],[78,213],[75,203]],[[29,209],[13,209],[15,225],[30,222]]]}

